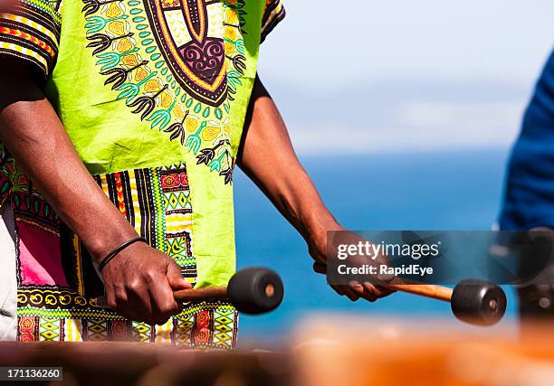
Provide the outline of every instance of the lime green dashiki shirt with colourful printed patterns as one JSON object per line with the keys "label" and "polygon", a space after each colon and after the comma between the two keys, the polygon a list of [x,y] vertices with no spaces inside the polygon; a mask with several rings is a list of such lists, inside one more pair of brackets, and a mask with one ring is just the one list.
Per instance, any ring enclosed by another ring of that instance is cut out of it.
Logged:
{"label": "lime green dashiki shirt with colourful printed patterns", "polygon": [[[19,0],[0,16],[0,52],[48,77],[83,163],[139,234],[196,287],[223,286],[234,155],[260,42],[283,16],[280,0]],[[166,325],[91,304],[103,287],[90,256],[4,146],[0,193],[17,236],[18,340],[234,346],[229,304],[190,304]]]}

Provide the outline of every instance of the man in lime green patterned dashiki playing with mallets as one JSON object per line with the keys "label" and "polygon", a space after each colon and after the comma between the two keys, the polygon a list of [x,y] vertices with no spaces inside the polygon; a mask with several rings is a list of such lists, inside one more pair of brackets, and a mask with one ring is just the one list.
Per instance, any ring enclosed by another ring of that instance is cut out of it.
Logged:
{"label": "man in lime green patterned dashiki playing with mallets", "polygon": [[233,306],[172,291],[234,273],[234,165],[325,264],[341,227],[256,75],[283,16],[280,0],[18,0],[0,15],[0,337],[233,347]]}

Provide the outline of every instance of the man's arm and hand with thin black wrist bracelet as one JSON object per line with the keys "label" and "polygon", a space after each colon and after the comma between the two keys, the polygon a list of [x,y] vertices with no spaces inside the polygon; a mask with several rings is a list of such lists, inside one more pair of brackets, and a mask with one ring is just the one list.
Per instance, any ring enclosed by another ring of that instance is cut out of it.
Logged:
{"label": "man's arm and hand with thin black wrist bracelet", "polygon": [[[47,99],[16,101],[2,109],[0,137],[97,263],[138,236],[82,164]],[[150,324],[163,324],[178,312],[172,289],[190,287],[172,259],[142,242],[112,259],[102,279],[110,307]]]}

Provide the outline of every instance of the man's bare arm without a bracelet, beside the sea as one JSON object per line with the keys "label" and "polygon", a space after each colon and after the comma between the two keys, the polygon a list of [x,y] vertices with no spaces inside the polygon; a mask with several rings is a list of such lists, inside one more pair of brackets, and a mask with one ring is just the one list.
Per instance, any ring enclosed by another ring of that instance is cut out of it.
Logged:
{"label": "man's bare arm without a bracelet, beside the sea", "polygon": [[[244,125],[238,165],[301,233],[316,261],[315,270],[325,273],[327,231],[343,231],[344,228],[321,201],[294,153],[279,110],[258,77]],[[279,174],[275,173],[276,165],[279,165]],[[352,300],[364,297],[369,301],[390,292],[370,283],[335,286],[334,289]]]}

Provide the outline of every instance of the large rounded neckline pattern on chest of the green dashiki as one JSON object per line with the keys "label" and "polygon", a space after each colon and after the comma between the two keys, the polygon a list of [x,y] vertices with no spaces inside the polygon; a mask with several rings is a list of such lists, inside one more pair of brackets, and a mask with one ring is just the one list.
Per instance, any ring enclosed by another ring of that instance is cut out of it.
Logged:
{"label": "large rounded neckline pattern on chest of the green dashiki", "polygon": [[116,98],[230,184],[229,100],[246,69],[244,1],[82,1],[88,46]]}

